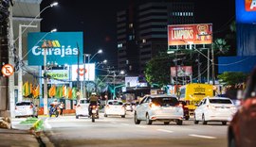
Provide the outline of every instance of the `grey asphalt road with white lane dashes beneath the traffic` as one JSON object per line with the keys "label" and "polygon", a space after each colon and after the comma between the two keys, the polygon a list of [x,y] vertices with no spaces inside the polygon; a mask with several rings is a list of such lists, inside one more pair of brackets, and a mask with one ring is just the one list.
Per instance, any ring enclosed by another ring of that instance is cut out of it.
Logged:
{"label": "grey asphalt road with white lane dashes beneath the traffic", "polygon": [[209,122],[208,125],[184,121],[183,125],[171,122],[146,122],[135,124],[133,113],[125,118],[107,117],[99,120],[75,116],[46,118],[46,136],[55,146],[173,146],[173,147],[227,147],[228,125]]}

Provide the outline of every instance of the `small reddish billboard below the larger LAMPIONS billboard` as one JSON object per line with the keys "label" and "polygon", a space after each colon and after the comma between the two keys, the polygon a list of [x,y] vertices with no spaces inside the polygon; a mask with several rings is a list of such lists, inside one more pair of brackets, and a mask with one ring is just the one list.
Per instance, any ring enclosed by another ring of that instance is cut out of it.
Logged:
{"label": "small reddish billboard below the larger LAMPIONS billboard", "polygon": [[[177,74],[176,74],[177,73]],[[176,66],[171,67],[171,76],[191,76],[192,66]]]}

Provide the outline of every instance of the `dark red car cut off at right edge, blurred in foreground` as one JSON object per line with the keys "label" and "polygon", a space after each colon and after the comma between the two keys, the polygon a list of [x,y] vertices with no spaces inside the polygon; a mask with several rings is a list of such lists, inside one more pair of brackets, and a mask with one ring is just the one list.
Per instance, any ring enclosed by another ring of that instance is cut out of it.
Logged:
{"label": "dark red car cut off at right edge, blurred in foreground", "polygon": [[256,146],[256,69],[250,74],[242,105],[229,123],[229,147]]}

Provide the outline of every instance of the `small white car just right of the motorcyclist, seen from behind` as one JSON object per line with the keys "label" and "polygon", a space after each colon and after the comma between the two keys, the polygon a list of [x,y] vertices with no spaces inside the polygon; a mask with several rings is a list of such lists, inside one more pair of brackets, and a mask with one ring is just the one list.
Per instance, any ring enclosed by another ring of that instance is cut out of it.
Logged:
{"label": "small white car just right of the motorcyclist, seen from behind", "polygon": [[108,100],[104,108],[104,117],[118,115],[125,118],[126,110],[120,100]]}

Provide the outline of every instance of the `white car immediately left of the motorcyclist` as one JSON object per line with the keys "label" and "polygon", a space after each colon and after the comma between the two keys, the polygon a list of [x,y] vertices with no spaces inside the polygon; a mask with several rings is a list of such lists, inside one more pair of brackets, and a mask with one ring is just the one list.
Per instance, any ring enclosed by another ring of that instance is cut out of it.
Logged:
{"label": "white car immediately left of the motorcyclist", "polygon": [[77,106],[76,106],[76,119],[79,119],[79,117],[89,117],[89,107],[90,103],[89,100],[86,98],[82,98],[79,100]]}

